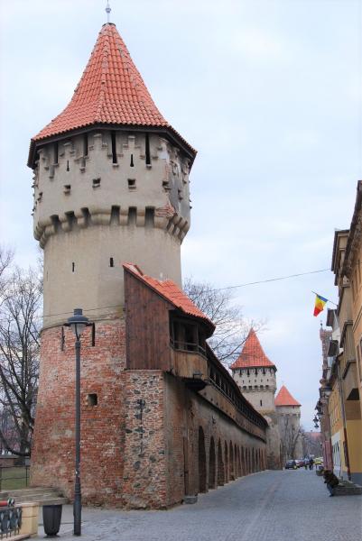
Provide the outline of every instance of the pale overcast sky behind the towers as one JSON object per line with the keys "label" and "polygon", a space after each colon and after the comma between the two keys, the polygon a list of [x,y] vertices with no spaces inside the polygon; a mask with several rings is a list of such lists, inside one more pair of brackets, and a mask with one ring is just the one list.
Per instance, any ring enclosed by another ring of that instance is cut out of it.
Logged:
{"label": "pale overcast sky behind the towers", "polygon": [[[162,115],[199,153],[183,276],[216,287],[329,269],[362,178],[360,0],[113,0]],[[0,0],[1,240],[27,266],[29,142],[70,100],[103,0]],[[235,289],[311,429],[320,318],[311,290],[337,301],[330,271]],[[322,317],[325,322],[325,315]]]}

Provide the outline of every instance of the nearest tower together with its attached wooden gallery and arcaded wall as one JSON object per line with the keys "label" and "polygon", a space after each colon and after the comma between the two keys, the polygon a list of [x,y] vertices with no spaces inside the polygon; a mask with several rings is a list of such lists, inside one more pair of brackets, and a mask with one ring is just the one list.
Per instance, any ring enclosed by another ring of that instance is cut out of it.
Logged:
{"label": "nearest tower together with its attached wooden gallery and arcaded wall", "polygon": [[64,324],[75,307],[90,323],[77,402],[85,503],[164,509],[265,469],[267,422],[181,290],[195,154],[105,24],[70,104],[30,149],[44,251],[32,486],[74,496],[75,341]]}

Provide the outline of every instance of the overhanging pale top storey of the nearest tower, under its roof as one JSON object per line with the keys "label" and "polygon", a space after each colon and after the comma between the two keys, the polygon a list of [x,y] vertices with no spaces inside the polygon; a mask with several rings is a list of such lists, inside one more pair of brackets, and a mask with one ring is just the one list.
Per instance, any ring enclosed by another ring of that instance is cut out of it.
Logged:
{"label": "overhanging pale top storey of the nearest tower, under its roof", "polygon": [[190,228],[190,159],[154,133],[105,130],[50,142],[33,177],[34,236],[96,225],[159,228],[182,242]]}

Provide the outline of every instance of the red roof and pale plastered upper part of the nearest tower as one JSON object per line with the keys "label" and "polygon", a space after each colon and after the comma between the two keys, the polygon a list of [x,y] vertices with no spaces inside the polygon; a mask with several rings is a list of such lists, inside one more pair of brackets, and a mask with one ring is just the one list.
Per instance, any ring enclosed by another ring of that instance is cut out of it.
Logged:
{"label": "red roof and pale plastered upper part of the nearest tower", "polygon": [[105,24],[70,104],[31,142],[44,328],[76,306],[93,320],[119,313],[125,261],[181,285],[194,157]]}

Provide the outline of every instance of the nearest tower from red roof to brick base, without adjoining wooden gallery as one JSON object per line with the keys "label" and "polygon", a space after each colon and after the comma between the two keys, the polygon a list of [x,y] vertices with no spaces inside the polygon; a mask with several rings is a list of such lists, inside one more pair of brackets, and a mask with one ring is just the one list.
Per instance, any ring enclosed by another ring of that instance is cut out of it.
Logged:
{"label": "nearest tower from red roof to brick base, without adjoining wooden gallery", "polygon": [[[161,74],[160,74],[161,77]],[[82,335],[82,485],[117,503],[124,468],[122,263],[181,285],[196,151],[158,111],[113,23],[105,24],[70,104],[31,142],[34,235],[44,252],[41,371],[32,484],[72,495],[75,307]]]}

